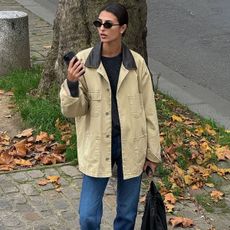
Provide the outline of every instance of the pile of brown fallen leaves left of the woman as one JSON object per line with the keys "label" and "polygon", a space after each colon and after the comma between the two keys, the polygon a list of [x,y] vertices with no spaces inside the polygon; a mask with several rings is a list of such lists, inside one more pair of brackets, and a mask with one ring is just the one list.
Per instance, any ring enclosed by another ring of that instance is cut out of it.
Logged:
{"label": "pile of brown fallen leaves left of the woman", "polygon": [[53,135],[26,129],[10,138],[0,133],[0,171],[31,168],[38,165],[64,163],[66,144],[57,143]]}

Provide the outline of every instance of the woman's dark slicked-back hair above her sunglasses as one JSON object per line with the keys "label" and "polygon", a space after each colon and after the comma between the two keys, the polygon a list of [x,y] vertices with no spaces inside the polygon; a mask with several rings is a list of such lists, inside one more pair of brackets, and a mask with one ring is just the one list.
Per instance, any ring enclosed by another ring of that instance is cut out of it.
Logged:
{"label": "woman's dark slicked-back hair above her sunglasses", "polygon": [[118,22],[121,26],[124,24],[128,25],[129,15],[125,6],[123,6],[122,4],[116,2],[108,3],[101,9],[101,11],[107,11],[114,14],[117,17]]}

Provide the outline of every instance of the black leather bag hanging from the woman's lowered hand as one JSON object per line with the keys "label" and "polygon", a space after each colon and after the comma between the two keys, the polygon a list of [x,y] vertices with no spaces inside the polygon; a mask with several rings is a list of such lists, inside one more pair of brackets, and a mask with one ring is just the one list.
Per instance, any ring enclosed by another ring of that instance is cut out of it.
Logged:
{"label": "black leather bag hanging from the woman's lowered hand", "polygon": [[146,197],[141,230],[167,230],[165,205],[153,181]]}

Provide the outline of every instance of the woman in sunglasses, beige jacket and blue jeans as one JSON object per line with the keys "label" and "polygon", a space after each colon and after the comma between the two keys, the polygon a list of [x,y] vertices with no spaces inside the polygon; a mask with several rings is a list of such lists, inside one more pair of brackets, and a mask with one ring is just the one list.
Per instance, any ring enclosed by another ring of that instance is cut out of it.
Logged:
{"label": "woman in sunglasses, beige jacket and blue jeans", "polygon": [[126,8],[106,5],[94,22],[100,43],[77,54],[68,67],[60,97],[62,112],[75,117],[82,230],[100,229],[102,198],[117,165],[114,229],[134,229],[141,174],[160,162],[152,81],[144,59],[122,42]]}

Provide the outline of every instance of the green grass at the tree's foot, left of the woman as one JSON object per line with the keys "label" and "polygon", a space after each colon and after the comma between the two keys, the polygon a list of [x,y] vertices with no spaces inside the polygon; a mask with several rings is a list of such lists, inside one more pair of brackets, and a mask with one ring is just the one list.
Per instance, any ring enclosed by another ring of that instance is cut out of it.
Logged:
{"label": "green grass at the tree's foot, left of the woman", "polygon": [[[14,71],[0,79],[0,88],[13,91],[13,100],[26,127],[33,127],[36,133],[40,131],[54,134],[58,142],[61,141],[60,131],[55,127],[57,119],[66,121],[61,114],[58,87],[50,89],[49,97],[37,97],[31,94],[38,87],[41,79],[42,66],[34,66],[27,71]],[[66,159],[76,159],[76,135],[72,135],[66,150]]]}

